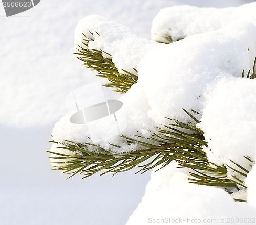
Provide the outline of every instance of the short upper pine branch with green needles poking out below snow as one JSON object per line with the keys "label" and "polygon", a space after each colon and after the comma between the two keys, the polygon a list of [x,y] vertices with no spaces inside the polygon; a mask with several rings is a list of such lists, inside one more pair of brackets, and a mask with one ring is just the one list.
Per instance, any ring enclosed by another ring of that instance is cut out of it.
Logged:
{"label": "short upper pine branch with green needles poking out below snow", "polygon": [[[93,36],[95,35],[92,32],[90,33]],[[97,32],[95,33],[96,35],[99,35]],[[86,47],[81,47],[78,45],[78,52],[74,54],[78,55],[77,58],[83,61],[82,65],[91,70],[97,71],[97,77],[106,78],[110,81],[110,83],[103,86],[115,88],[113,91],[116,92],[126,93],[133,84],[137,83],[138,76],[135,68],[133,68],[135,74],[124,69],[122,69],[123,73],[120,73],[112,61],[111,54],[104,52],[102,49],[88,48],[89,42],[94,41],[94,37],[89,38],[84,35],[83,41],[83,44]]]}

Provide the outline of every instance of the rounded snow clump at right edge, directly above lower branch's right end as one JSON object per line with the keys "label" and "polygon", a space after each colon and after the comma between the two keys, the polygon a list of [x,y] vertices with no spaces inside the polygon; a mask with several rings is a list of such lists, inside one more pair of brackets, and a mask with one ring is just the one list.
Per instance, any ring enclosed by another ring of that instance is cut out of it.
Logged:
{"label": "rounded snow clump at right edge, directly above lower branch's right end", "polygon": [[206,88],[201,128],[209,143],[210,162],[235,168],[233,160],[250,168],[243,156],[254,159],[256,154],[255,85],[256,79],[229,77]]}

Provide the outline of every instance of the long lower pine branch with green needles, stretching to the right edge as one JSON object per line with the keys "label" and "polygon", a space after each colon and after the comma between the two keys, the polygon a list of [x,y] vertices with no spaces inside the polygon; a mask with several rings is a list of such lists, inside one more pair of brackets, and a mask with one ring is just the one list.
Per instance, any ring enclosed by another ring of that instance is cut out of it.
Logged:
{"label": "long lower pine branch with green needles, stretching to the right edge", "polygon": [[[57,155],[50,158],[62,160],[61,162],[52,162],[56,164],[54,169],[64,170],[63,173],[70,174],[70,177],[80,173],[84,174],[83,178],[87,178],[98,172],[102,172],[101,175],[106,173],[113,173],[114,175],[134,167],[140,169],[136,173],[144,173],[157,166],[161,166],[159,168],[161,169],[175,160],[178,162],[178,168],[190,168],[192,170],[190,172],[191,178],[189,178],[191,183],[222,187],[229,194],[245,190],[247,187],[244,185],[244,179],[249,170],[232,160],[230,161],[233,163],[233,166],[217,166],[209,162],[207,154],[203,151],[203,147],[208,147],[208,143],[205,140],[204,132],[197,127],[199,120],[196,118],[196,114],[198,113],[193,111],[195,115],[192,115],[186,110],[184,112],[194,123],[186,124],[168,118],[172,123],[168,123],[164,128],[160,128],[159,133],[153,133],[151,138],[143,138],[140,135],[136,135],[138,139],[120,136],[126,141],[126,144],[138,143],[145,148],[144,150],[121,154],[95,144],[66,141],[61,143],[65,146],[58,148],[69,150],[73,152],[73,155],[47,152]],[[55,141],[50,142],[58,143]],[[115,144],[111,145],[116,148],[121,147]],[[93,147],[94,151],[89,151],[89,147]],[[255,163],[247,156],[244,158],[248,160],[250,167]],[[145,162],[146,164],[143,164]],[[59,163],[65,165],[58,166]],[[227,167],[236,172],[239,177],[232,176],[233,179],[229,179],[227,177]],[[244,202],[245,200],[236,199],[236,201]]]}

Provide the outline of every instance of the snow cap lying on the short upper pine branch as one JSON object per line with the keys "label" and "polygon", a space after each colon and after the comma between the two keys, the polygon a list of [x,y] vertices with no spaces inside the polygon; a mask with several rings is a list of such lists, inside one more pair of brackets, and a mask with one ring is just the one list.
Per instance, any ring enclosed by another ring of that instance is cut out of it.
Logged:
{"label": "snow cap lying on the short upper pine branch", "polygon": [[[90,32],[94,33],[93,37]],[[122,69],[134,73],[133,68],[137,68],[141,58],[156,45],[154,41],[133,34],[127,27],[97,15],[79,21],[75,29],[75,49],[77,45],[86,47],[82,44],[83,34],[95,38],[89,42],[88,48],[103,49],[111,54],[112,61],[122,73]]]}

